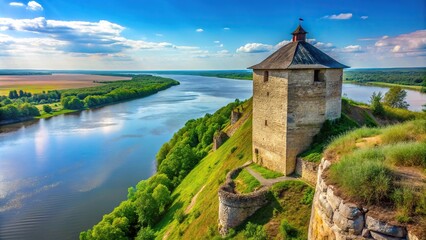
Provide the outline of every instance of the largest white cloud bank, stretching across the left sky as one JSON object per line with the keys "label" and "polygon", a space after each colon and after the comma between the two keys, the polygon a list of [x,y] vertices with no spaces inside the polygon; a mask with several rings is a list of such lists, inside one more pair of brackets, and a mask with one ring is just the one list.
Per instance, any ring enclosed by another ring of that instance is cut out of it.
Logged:
{"label": "largest white cloud bank, stretching across the left sky", "polygon": [[44,17],[34,19],[0,18],[1,31],[29,32],[37,38],[50,38],[62,44],[57,51],[81,54],[117,54],[128,49],[191,50],[196,47],[175,46],[169,42],[150,42],[132,40],[121,36],[125,28],[106,20],[99,22],[46,20]]}

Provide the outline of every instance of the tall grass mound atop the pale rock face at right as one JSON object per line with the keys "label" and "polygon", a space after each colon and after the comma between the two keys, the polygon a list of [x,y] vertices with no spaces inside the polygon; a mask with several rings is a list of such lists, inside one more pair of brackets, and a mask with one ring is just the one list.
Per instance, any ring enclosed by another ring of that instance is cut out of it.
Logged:
{"label": "tall grass mound atop the pale rock face at right", "polygon": [[340,159],[330,167],[328,177],[346,196],[363,204],[386,202],[396,209],[401,223],[426,222],[426,186],[419,179],[414,184],[415,179],[405,177],[407,170],[401,168],[426,173],[426,120],[354,130],[335,139],[326,155]]}

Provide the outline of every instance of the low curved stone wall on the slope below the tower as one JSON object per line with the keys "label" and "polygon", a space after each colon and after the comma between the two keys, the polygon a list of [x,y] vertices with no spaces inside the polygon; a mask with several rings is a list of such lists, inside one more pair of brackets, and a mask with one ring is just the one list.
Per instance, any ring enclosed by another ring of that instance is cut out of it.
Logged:
{"label": "low curved stone wall on the slope below the tower", "polygon": [[229,172],[225,183],[219,188],[219,232],[226,235],[230,228],[237,227],[259,208],[268,203],[268,189],[250,194],[235,193],[232,180],[243,167]]}

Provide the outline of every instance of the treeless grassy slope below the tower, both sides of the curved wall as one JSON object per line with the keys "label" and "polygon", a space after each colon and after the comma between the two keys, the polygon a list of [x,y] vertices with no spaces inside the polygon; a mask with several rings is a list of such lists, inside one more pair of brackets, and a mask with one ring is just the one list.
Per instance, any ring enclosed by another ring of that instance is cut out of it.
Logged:
{"label": "treeless grassy slope below the tower, both sides of the curved wall", "polygon": [[[154,226],[156,239],[214,239],[219,237],[218,189],[226,174],[252,159],[251,102],[247,104],[247,120],[241,118],[241,127],[217,151],[208,156],[185,177],[172,194],[173,203],[164,218]],[[238,123],[237,123],[238,124]],[[272,203],[258,210],[248,222],[263,225],[269,238],[282,239],[280,225],[290,234],[307,236],[311,203],[304,202],[313,195],[312,188],[301,181],[288,181],[274,186]],[[184,217],[182,216],[182,213]],[[247,239],[243,224],[229,236]]]}

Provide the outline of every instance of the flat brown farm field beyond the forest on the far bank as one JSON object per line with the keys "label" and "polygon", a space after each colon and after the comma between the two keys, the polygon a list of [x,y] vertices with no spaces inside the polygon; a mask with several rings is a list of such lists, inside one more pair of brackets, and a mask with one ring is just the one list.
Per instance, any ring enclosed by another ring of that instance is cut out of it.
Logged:
{"label": "flat brown farm field beyond the forest on the far bank", "polygon": [[0,96],[8,95],[10,90],[40,93],[49,90],[85,88],[101,85],[98,81],[130,80],[131,77],[115,77],[89,74],[53,75],[6,75],[0,76]]}

